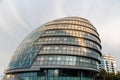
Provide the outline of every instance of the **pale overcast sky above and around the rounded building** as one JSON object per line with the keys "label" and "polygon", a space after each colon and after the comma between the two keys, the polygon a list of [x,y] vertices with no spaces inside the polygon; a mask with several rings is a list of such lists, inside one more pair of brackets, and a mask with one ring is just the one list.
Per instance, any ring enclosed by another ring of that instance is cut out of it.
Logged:
{"label": "pale overcast sky above and around the rounded building", "polygon": [[120,70],[120,0],[0,0],[0,74],[31,31],[66,16],[88,19],[100,34],[102,53],[114,56]]}

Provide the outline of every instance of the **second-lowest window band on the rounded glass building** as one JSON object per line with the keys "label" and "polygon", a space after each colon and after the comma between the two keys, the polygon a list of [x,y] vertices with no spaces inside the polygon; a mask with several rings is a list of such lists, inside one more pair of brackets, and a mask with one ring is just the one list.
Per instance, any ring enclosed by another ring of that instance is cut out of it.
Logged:
{"label": "second-lowest window band on the rounded glass building", "polygon": [[43,46],[38,54],[68,54],[68,55],[78,55],[78,56],[87,56],[95,59],[100,59],[100,53],[76,46],[63,46],[63,45],[48,45]]}

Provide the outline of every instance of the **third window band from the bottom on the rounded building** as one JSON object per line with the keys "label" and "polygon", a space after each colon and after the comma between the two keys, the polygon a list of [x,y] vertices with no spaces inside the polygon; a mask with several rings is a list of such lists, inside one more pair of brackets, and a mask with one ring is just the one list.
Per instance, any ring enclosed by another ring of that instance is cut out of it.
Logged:
{"label": "third window band from the bottom on the rounded building", "polygon": [[96,50],[101,49],[101,46],[99,46],[96,43],[93,43],[92,41],[80,39],[80,38],[74,38],[74,37],[42,37],[39,38],[34,45],[39,44],[64,44],[64,45],[78,45],[78,46],[86,46],[90,47]]}

